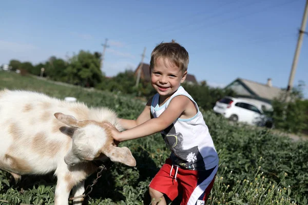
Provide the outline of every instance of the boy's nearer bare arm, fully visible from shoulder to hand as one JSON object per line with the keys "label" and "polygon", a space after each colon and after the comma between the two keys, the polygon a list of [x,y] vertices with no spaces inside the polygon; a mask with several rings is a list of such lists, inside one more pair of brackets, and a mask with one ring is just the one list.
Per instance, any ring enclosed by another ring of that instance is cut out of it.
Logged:
{"label": "boy's nearer bare arm, fully visible from shoulder to hand", "polygon": [[170,101],[167,109],[158,118],[149,119],[130,130],[119,132],[113,126],[109,125],[112,129],[113,138],[117,141],[126,141],[160,132],[169,127],[181,116],[189,102],[190,99],[184,95],[176,96]]}

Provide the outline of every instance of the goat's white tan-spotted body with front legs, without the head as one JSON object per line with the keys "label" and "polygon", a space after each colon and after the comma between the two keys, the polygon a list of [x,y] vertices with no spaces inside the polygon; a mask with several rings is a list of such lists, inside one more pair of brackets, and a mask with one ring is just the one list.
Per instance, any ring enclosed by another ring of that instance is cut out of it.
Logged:
{"label": "goat's white tan-spotted body with front legs, without the head", "polygon": [[15,179],[54,171],[55,203],[68,204],[70,190],[76,186],[73,193],[82,194],[84,179],[97,167],[91,161],[75,166],[65,163],[76,128],[56,119],[54,113],[59,112],[79,120],[109,121],[117,127],[116,115],[106,108],[88,108],[36,92],[0,91],[0,169]]}

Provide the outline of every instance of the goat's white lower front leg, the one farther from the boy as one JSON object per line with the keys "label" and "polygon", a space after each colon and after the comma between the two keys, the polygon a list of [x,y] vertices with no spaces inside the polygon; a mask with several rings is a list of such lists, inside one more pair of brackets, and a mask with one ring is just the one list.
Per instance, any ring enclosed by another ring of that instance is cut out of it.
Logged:
{"label": "goat's white lower front leg, the one farther from the boy", "polygon": [[57,175],[54,192],[54,205],[68,205],[68,197],[72,187],[69,175]]}

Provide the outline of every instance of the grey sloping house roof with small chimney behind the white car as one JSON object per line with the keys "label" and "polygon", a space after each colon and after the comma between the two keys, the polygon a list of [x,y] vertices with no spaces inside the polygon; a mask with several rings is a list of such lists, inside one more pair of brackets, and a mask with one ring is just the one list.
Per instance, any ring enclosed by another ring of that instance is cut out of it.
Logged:
{"label": "grey sloping house roof with small chimney behind the white car", "polygon": [[247,80],[243,78],[238,78],[237,80],[241,81],[248,89],[250,89],[255,95],[273,100],[275,97],[279,97],[281,94],[281,89],[274,86],[268,86],[266,84],[257,83],[252,80]]}

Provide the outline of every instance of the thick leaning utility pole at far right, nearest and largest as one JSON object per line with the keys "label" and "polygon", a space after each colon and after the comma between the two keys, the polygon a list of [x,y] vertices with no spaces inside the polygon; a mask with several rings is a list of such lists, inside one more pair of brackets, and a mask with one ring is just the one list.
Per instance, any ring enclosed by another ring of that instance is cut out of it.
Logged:
{"label": "thick leaning utility pole at far right, nearest and largest", "polygon": [[289,77],[288,85],[287,85],[287,89],[286,89],[287,92],[290,92],[293,88],[293,80],[294,80],[294,75],[295,75],[296,66],[297,66],[297,62],[298,62],[299,52],[300,52],[301,45],[302,45],[302,42],[303,42],[303,35],[304,35],[304,33],[308,34],[307,32],[305,32],[307,16],[308,16],[308,0],[306,0],[306,6],[305,6],[305,10],[304,10],[303,19],[302,19],[302,25],[301,25],[301,28],[299,30],[299,36],[298,36],[298,40],[297,40],[295,55],[294,55],[294,58],[293,58],[292,69],[291,69],[291,73],[290,73],[290,77]]}

